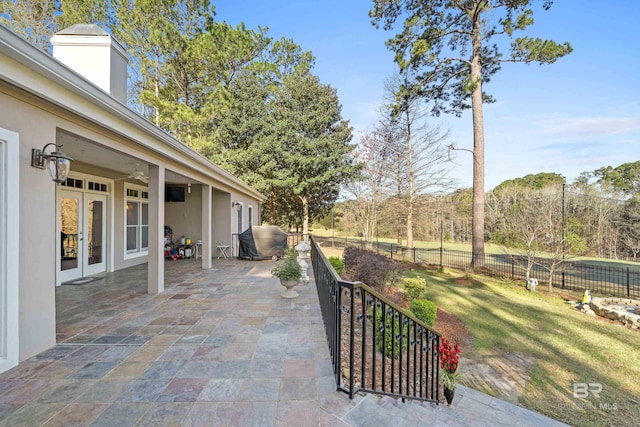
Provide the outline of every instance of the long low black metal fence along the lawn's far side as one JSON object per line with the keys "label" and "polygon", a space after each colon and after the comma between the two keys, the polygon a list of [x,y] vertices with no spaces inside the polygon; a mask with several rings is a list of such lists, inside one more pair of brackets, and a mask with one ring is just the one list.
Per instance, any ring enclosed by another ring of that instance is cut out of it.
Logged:
{"label": "long low black metal fence along the lawn's far side", "polygon": [[[367,245],[360,239],[331,239],[315,237],[323,247],[345,247],[357,245],[365,248]],[[471,264],[471,252],[451,250],[447,248],[407,248],[393,243],[374,242],[372,250],[386,256],[404,261],[424,265],[441,267],[468,268]],[[527,260],[522,255],[488,254],[485,253],[483,268],[486,272],[513,280],[526,276]],[[538,286],[549,283],[549,260],[536,258],[531,270],[531,277],[539,280]],[[616,296],[623,298],[640,298],[640,268],[611,267],[596,263],[565,261],[554,271],[553,287],[574,291],[590,290],[592,294],[602,296]]]}

